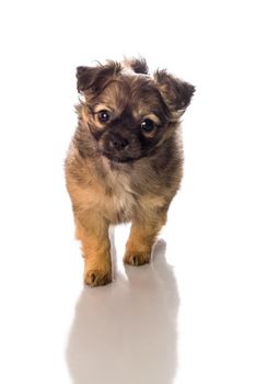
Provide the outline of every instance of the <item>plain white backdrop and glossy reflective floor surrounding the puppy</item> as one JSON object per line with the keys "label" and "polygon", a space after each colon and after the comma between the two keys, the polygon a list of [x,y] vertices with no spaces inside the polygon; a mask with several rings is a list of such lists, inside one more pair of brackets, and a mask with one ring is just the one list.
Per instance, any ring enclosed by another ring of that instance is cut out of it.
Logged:
{"label": "plain white backdrop and glossy reflective floor surrounding the puppy", "polygon": [[[255,383],[252,1],[2,1],[0,382]],[[152,264],[83,289],[62,163],[76,67],[143,55],[197,92]]]}

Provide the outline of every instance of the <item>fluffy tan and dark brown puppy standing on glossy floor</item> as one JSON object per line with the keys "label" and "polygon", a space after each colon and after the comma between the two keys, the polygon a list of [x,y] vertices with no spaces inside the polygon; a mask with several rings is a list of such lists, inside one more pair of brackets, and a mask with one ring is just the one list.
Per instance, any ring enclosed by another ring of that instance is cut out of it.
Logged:
{"label": "fluffy tan and dark brown puppy standing on glossy floor", "polygon": [[179,188],[179,117],[195,88],[144,59],[78,67],[78,127],[66,159],[84,282],[112,281],[111,224],[131,222],[124,262],[150,262]]}

